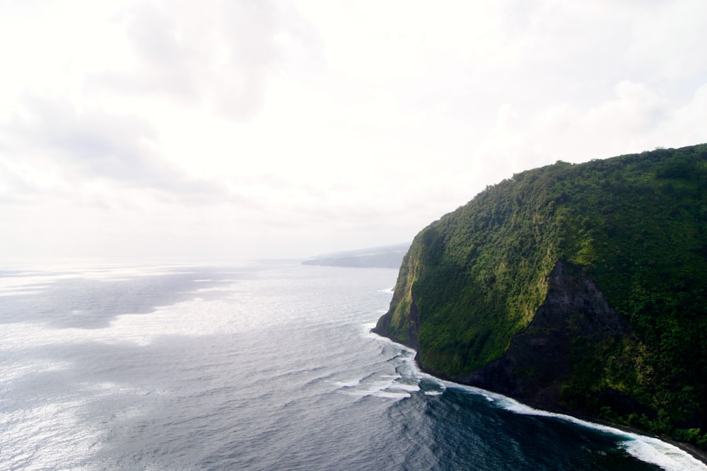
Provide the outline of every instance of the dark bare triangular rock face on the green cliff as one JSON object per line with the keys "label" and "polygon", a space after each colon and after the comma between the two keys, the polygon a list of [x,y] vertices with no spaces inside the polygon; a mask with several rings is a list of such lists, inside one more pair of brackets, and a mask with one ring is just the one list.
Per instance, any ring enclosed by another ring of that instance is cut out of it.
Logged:
{"label": "dark bare triangular rock face on the green cliff", "polygon": [[455,379],[534,407],[564,410],[560,402],[563,380],[571,368],[582,367],[574,362],[573,343],[607,348],[629,333],[626,322],[581,269],[558,262],[545,302],[530,325],[513,338],[506,353]]}

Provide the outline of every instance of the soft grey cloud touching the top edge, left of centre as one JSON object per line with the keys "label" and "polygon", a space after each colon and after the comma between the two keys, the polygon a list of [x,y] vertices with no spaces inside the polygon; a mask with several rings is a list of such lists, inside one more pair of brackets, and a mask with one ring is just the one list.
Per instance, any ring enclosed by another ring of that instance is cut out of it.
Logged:
{"label": "soft grey cloud touching the top edge, left of centre", "polygon": [[237,121],[259,115],[270,77],[317,61],[320,40],[272,1],[139,2],[117,15],[136,63],[89,77],[96,88],[205,106]]}

